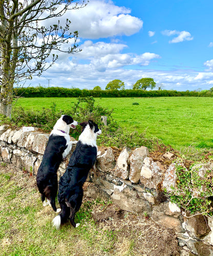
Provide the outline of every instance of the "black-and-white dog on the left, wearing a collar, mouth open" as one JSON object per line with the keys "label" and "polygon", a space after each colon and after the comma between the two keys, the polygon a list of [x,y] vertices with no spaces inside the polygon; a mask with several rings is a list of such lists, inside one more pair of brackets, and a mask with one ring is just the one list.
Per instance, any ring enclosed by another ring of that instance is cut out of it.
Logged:
{"label": "black-and-white dog on the left, wearing a collar, mouth open", "polygon": [[[36,182],[43,205],[52,206],[54,211],[57,211],[55,206],[55,198],[58,191],[57,170],[62,162],[72,149],[72,144],[77,141],[70,141],[70,127],[76,128],[77,121],[74,121],[71,116],[62,115],[53,127],[50,134],[47,147],[41,164],[36,175]],[[47,198],[47,203],[45,202]],[[60,209],[58,210],[60,211]]]}

